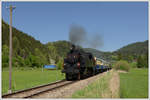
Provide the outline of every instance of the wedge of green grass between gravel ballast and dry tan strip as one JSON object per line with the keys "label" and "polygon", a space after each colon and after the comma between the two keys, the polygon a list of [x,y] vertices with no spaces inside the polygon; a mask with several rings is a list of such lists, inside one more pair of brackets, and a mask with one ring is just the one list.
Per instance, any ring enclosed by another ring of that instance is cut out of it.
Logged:
{"label": "wedge of green grass between gravel ballast and dry tan strip", "polygon": [[111,78],[111,72],[89,84],[87,87],[76,91],[72,98],[101,98],[103,93],[108,93],[108,83]]}

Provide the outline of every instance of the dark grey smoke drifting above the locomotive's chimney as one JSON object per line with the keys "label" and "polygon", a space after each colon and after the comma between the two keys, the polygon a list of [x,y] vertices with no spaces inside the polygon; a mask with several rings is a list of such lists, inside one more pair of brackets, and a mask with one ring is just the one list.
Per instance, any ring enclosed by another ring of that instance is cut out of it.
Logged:
{"label": "dark grey smoke drifting above the locomotive's chimney", "polygon": [[93,34],[88,36],[86,30],[79,25],[71,25],[69,32],[69,40],[71,43],[88,48],[98,48],[103,46],[102,36]]}

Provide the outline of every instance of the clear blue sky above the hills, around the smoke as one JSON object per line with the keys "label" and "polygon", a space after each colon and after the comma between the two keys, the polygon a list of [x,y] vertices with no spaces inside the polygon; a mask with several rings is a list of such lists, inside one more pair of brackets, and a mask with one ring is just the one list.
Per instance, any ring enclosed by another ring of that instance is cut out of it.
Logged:
{"label": "clear blue sky above the hills, around the smoke", "polygon": [[2,2],[2,19],[45,44],[69,40],[72,24],[89,36],[100,34],[101,51],[115,51],[130,43],[148,40],[148,2]]}

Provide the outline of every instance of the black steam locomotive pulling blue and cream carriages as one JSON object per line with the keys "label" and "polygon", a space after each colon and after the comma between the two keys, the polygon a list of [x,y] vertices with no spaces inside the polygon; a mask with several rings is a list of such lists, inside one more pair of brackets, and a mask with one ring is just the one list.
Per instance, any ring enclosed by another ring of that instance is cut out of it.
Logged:
{"label": "black steam locomotive pulling blue and cream carriages", "polygon": [[62,73],[65,73],[66,80],[80,80],[110,69],[100,63],[92,53],[72,44],[67,57],[64,58]]}

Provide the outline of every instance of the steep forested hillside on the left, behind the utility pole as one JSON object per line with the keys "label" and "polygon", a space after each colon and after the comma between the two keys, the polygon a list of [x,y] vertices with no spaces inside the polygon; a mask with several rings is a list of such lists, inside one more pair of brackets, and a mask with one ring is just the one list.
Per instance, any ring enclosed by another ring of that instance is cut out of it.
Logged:
{"label": "steep forested hillside on the left, behind the utility pole", "polygon": [[[42,44],[32,36],[13,30],[13,66],[16,67],[41,67],[50,64],[50,60],[55,63],[63,60],[69,50],[69,42],[57,41]],[[9,25],[2,20],[2,66],[8,67],[9,61]]]}

